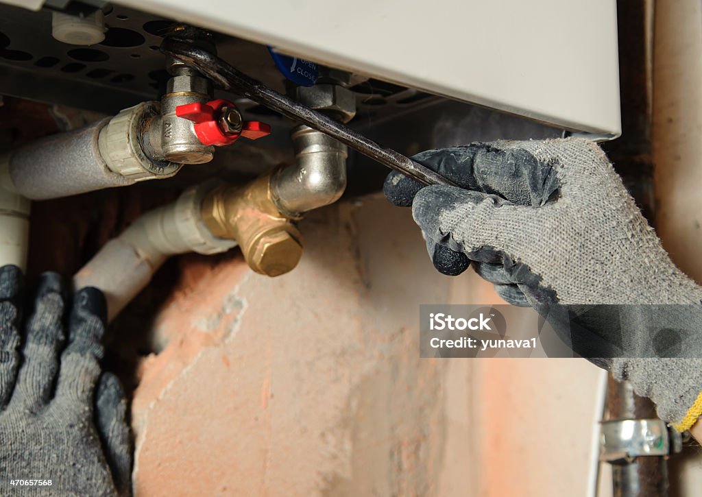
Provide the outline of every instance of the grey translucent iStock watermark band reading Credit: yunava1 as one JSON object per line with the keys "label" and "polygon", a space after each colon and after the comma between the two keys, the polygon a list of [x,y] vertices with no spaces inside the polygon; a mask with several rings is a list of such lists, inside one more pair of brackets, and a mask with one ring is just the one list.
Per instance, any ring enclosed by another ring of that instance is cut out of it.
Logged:
{"label": "grey translucent iStock watermark band reading Credit: yunava1", "polygon": [[420,305],[422,357],[696,357],[702,305]]}

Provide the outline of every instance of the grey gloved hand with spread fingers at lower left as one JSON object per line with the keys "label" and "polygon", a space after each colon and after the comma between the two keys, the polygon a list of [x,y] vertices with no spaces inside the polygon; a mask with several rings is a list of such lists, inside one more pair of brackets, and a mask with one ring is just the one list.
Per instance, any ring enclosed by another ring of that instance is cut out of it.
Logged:
{"label": "grey gloved hand with spread fingers at lower left", "polygon": [[100,369],[105,298],[93,288],[79,291],[64,319],[66,301],[60,277],[46,273],[25,321],[22,274],[15,266],[0,268],[3,495],[27,491],[27,480],[43,482],[32,495],[131,492],[124,393]]}

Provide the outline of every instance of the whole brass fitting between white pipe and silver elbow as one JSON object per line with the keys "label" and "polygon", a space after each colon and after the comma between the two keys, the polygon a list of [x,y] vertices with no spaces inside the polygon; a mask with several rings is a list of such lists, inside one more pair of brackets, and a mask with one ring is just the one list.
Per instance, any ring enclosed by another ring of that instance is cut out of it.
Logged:
{"label": "whole brass fitting between white pipe and silver elbow", "polygon": [[300,262],[302,234],[273,203],[270,175],[243,187],[224,185],[209,192],[202,219],[212,234],[236,240],[246,263],[260,274],[280,276]]}

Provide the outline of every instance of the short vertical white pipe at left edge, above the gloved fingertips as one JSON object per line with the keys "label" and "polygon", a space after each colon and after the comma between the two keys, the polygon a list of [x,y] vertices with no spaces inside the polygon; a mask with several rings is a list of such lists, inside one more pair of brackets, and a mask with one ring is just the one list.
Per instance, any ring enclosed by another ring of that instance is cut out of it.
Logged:
{"label": "short vertical white pipe at left edge, above the gloved fingertips", "polygon": [[0,157],[0,266],[25,272],[32,202],[18,194],[10,179],[10,154]]}

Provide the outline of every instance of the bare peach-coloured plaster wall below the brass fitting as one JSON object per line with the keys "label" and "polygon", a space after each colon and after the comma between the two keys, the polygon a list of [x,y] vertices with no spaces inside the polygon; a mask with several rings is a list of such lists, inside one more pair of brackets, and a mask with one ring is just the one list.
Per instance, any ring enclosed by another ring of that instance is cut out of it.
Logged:
{"label": "bare peach-coloured plaster wall below the brass fitting", "polygon": [[418,305],[491,287],[437,274],[384,199],[302,231],[284,277],[186,266],[140,364],[138,495],[585,495],[594,366],[419,359]]}

